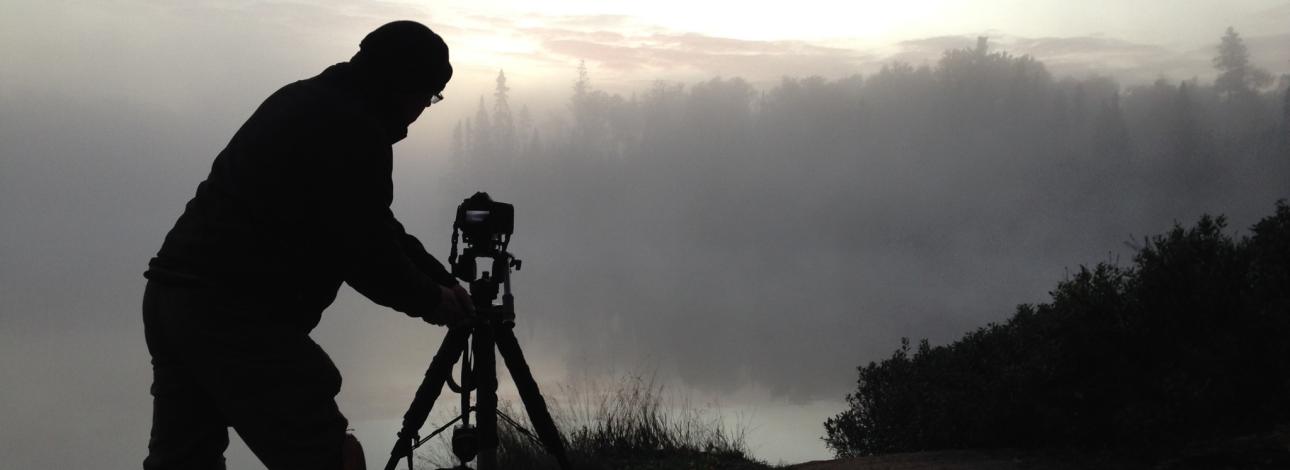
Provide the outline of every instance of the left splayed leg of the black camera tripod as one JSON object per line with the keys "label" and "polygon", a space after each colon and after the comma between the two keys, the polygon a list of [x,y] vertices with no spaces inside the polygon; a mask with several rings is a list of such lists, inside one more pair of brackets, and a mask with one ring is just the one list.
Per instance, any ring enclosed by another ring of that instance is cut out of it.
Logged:
{"label": "left splayed leg of the black camera tripod", "polygon": [[453,373],[453,364],[457,364],[457,359],[466,350],[466,342],[470,337],[470,328],[449,329],[448,334],[444,336],[444,342],[439,345],[435,359],[430,362],[430,368],[426,369],[426,378],[421,381],[412,405],[404,413],[402,429],[399,431],[395,448],[390,451],[390,461],[386,462],[386,470],[393,470],[395,465],[399,464],[399,458],[402,457],[408,457],[410,465],[412,445],[414,444],[413,440],[417,431],[426,424],[430,409],[435,407],[435,400],[439,399],[439,394],[444,390],[444,382]]}

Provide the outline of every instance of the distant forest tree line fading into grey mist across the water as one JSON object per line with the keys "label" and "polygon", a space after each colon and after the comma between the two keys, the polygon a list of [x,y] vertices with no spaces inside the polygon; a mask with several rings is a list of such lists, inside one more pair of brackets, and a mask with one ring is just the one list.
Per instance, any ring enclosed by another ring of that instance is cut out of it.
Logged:
{"label": "distant forest tree line fading into grey mist across the water", "polygon": [[659,81],[627,97],[595,89],[579,66],[566,112],[539,118],[526,106],[512,112],[499,74],[491,101],[480,97],[475,118],[454,128],[453,155],[481,178],[521,186],[578,187],[591,174],[666,181],[660,194],[624,195],[649,200],[724,181],[743,185],[748,203],[925,191],[1013,205],[962,214],[983,223],[1040,210],[1125,220],[1205,201],[1265,204],[1290,181],[1290,76],[1250,63],[1231,28],[1214,66],[1213,84],[1161,77],[1125,89],[1106,76],[1054,77],[982,39],[933,66],[784,77],[768,90],[739,77]]}

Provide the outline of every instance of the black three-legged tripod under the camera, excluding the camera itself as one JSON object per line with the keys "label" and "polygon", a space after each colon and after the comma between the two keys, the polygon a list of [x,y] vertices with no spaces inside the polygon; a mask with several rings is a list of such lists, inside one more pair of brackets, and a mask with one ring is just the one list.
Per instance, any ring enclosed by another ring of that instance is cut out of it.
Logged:
{"label": "black three-legged tripod under the camera, excluding the camera itself", "polygon": [[[454,267],[459,267],[455,256],[457,236],[454,231],[452,261]],[[484,271],[482,276],[473,279],[476,257],[491,258],[495,275],[490,276],[488,271]],[[502,354],[506,368],[515,380],[520,399],[529,413],[529,421],[533,424],[542,445],[556,458],[561,469],[570,470],[571,466],[565,455],[560,431],[556,429],[555,421],[551,420],[538,383],[533,380],[529,364],[524,360],[524,352],[520,351],[520,342],[515,338],[515,297],[511,296],[511,267],[519,269],[520,261],[504,249],[493,248],[467,248],[464,258],[471,265],[470,278],[473,279],[470,283],[470,292],[475,305],[475,318],[462,325],[449,328],[439,351],[430,362],[426,378],[417,389],[412,405],[404,413],[402,429],[399,431],[393,449],[390,451],[386,470],[393,470],[401,458],[408,458],[408,469],[412,470],[413,449],[457,421],[461,421],[462,426],[453,435],[453,453],[461,460],[455,469],[466,469],[466,462],[477,455],[479,470],[497,470],[497,418],[499,414],[531,438],[531,434],[528,434],[513,420],[497,409],[497,356],[494,349]],[[499,285],[504,292],[502,305],[493,305]],[[471,365],[472,355],[473,367]],[[462,359],[462,380],[461,383],[453,383],[452,372],[458,358]],[[426,438],[419,438],[417,433],[426,424],[426,418],[445,383],[462,395],[462,413]],[[473,407],[471,405],[471,391],[477,395]],[[471,412],[475,412],[477,430],[470,426]]]}

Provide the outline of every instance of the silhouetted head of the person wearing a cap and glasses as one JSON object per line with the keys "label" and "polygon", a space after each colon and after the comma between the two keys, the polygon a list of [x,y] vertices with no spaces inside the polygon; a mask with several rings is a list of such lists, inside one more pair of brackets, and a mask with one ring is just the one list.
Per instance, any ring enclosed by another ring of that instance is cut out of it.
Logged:
{"label": "silhouetted head of the person wearing a cap and glasses", "polygon": [[453,77],[448,44],[414,21],[386,23],[369,32],[350,63],[372,79],[373,92],[388,101],[396,114],[392,118],[404,127],[441,98]]}

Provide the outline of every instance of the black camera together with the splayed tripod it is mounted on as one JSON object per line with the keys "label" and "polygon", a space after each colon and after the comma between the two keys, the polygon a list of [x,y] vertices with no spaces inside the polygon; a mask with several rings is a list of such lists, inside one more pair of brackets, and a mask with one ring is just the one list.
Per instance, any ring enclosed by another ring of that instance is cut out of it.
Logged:
{"label": "black camera together with the splayed tripod it is mounted on", "polygon": [[[453,267],[453,275],[470,283],[470,293],[466,297],[470,300],[467,303],[473,306],[473,315],[466,316],[455,325],[449,325],[444,342],[439,346],[439,351],[435,352],[435,358],[426,371],[426,378],[417,389],[417,395],[404,414],[402,429],[399,431],[393,449],[390,451],[386,470],[393,470],[402,458],[408,460],[408,469],[412,470],[413,449],[458,421],[461,421],[461,426],[454,429],[452,440],[453,453],[459,460],[457,469],[464,469],[467,462],[477,457],[480,470],[495,470],[498,417],[513,425],[526,436],[538,440],[555,457],[561,469],[571,469],[560,431],[547,411],[538,383],[533,380],[520,343],[515,338],[515,297],[511,294],[511,269],[519,270],[521,263],[507,252],[513,226],[515,208],[511,204],[493,201],[485,192],[476,192],[457,208],[457,221],[453,223],[453,252],[448,261]],[[461,257],[457,253],[458,232],[466,243]],[[491,269],[476,276],[479,258],[490,260]],[[461,287],[452,291],[455,298],[461,298],[464,293]],[[502,303],[494,305],[499,291]],[[495,352],[502,354],[502,359],[511,372],[511,378],[515,380],[537,438],[533,436],[533,433],[520,427],[515,420],[497,411]],[[452,372],[458,359],[462,360],[461,382],[454,382]],[[461,416],[421,438],[418,433],[426,424],[444,385],[461,394]],[[476,395],[473,405],[471,404],[472,393]],[[476,426],[471,426],[472,412],[477,422]]]}

